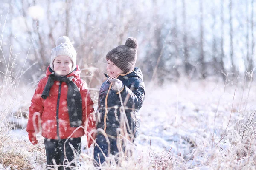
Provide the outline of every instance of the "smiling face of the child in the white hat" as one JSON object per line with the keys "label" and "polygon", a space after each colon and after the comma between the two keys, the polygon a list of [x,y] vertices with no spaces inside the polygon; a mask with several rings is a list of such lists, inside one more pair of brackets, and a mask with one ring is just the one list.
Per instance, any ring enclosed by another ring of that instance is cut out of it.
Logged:
{"label": "smiling face of the child in the white hat", "polygon": [[60,76],[66,76],[71,72],[72,65],[70,57],[60,55],[53,61],[53,71]]}

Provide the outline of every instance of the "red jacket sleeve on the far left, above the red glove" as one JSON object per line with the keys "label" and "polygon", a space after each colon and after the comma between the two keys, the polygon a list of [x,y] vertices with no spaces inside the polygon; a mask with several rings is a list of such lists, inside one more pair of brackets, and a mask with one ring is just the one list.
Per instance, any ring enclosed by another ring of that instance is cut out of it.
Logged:
{"label": "red jacket sleeve on the far left, above the red glove", "polygon": [[44,79],[39,81],[31,100],[31,105],[29,107],[29,120],[26,128],[28,133],[38,133],[41,128],[41,115],[44,111],[44,99],[41,97],[42,91],[44,90],[43,82]]}

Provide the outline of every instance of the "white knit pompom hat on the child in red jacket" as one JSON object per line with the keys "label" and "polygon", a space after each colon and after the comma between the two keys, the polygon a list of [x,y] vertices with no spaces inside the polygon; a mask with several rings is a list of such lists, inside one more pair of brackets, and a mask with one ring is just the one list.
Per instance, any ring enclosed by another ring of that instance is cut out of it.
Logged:
{"label": "white knit pompom hat on the child in red jacket", "polygon": [[56,47],[52,48],[52,56],[51,56],[51,68],[53,69],[53,62],[56,57],[60,55],[64,55],[70,57],[71,61],[73,62],[71,70],[75,70],[76,68],[76,50],[73,47],[70,39],[66,36],[59,37],[56,42]]}

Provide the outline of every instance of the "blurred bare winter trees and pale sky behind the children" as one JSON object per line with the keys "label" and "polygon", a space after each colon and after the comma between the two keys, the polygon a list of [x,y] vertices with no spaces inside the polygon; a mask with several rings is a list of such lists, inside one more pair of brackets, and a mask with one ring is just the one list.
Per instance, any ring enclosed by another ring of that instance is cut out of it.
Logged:
{"label": "blurred bare winter trees and pale sky behind the children", "polygon": [[107,52],[128,37],[139,42],[145,81],[251,79],[255,11],[254,0],[1,0],[0,77],[37,83],[66,35],[90,87],[104,79]]}

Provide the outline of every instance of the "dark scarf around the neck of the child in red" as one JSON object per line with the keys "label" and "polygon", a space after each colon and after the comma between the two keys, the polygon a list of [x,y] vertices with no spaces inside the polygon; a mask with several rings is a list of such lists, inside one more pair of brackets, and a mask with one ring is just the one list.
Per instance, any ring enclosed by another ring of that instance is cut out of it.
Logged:
{"label": "dark scarf around the neck of the child in red", "polygon": [[66,82],[68,86],[67,108],[70,119],[70,127],[79,127],[82,124],[82,98],[78,87],[72,81],[73,78],[74,76],[65,77],[50,74],[41,97],[46,99],[49,96],[50,89],[54,84],[54,81]]}

